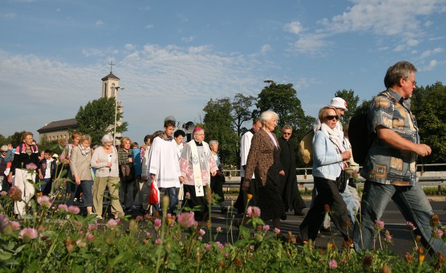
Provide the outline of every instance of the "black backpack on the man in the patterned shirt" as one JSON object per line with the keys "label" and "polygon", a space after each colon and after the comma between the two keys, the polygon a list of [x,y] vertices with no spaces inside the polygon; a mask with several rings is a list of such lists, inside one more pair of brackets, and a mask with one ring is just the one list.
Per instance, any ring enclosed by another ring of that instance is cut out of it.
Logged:
{"label": "black backpack on the man in the patterned shirt", "polygon": [[[387,91],[380,92],[378,96],[385,96],[390,99],[393,104],[397,104],[397,99]],[[376,133],[374,131],[369,131],[369,119],[367,115],[368,113],[353,115],[348,123],[348,140],[350,140],[351,143],[353,158],[355,158],[355,162],[361,166],[364,165],[371,144],[374,143],[376,138]]]}

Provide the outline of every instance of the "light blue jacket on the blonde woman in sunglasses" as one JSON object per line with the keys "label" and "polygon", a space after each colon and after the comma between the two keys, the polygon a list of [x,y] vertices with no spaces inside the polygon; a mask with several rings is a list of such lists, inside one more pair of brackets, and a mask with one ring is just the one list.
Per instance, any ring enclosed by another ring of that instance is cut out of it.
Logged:
{"label": "light blue jacket on the blonde woman in sunglasses", "polygon": [[313,176],[336,181],[341,174],[342,156],[333,142],[321,131],[313,138]]}

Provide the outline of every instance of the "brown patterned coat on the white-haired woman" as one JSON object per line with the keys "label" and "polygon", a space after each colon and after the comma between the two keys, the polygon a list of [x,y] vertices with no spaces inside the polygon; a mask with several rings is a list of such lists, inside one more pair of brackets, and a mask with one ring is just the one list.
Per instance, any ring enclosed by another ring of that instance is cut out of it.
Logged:
{"label": "brown patterned coat on the white-haired woman", "polygon": [[[279,142],[275,134],[272,136],[276,140],[277,145]],[[282,170],[280,163],[280,147],[275,147],[270,135],[263,129],[254,133],[252,137],[251,147],[249,148],[249,154],[246,163],[246,172],[244,183],[250,182],[252,174],[254,173],[255,181],[259,186],[265,186],[267,178],[269,181],[280,182],[279,172]]]}

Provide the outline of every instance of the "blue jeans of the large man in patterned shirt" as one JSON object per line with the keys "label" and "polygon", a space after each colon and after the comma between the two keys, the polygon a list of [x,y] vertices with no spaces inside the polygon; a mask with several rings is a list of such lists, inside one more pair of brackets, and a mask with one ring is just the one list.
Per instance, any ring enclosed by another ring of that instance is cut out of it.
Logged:
{"label": "blue jeans of the large man in patterned shirt", "polygon": [[[375,221],[383,216],[385,207],[392,199],[406,221],[413,222],[415,233],[422,236],[422,244],[433,252],[446,254],[446,247],[441,239],[431,236],[431,204],[426,198],[420,183],[413,186],[385,185],[366,181],[361,201],[360,222],[355,225],[353,242],[355,250],[373,249]],[[362,235],[362,238],[361,238]]]}

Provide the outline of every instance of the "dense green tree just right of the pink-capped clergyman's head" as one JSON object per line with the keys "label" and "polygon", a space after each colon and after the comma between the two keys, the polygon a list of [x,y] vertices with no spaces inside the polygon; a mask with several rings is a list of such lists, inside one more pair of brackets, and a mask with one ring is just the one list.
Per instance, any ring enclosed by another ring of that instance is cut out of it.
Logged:
{"label": "dense green tree just right of the pink-capped clergyman's head", "polygon": [[220,146],[220,159],[224,165],[236,165],[238,151],[238,135],[233,131],[234,118],[231,99],[210,99],[203,108],[203,128],[206,131],[206,142],[217,140]]}

